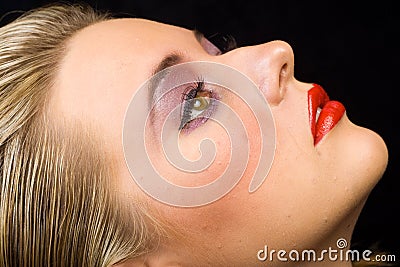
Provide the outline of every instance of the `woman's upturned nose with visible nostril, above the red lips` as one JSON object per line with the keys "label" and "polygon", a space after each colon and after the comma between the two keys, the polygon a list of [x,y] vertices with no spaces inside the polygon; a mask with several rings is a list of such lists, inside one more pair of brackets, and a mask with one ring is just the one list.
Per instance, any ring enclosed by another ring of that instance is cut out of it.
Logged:
{"label": "woman's upturned nose with visible nostril, above the red lips", "polygon": [[284,99],[294,69],[293,49],[288,43],[272,41],[238,48],[229,54],[230,63],[256,83],[270,105],[278,105]]}

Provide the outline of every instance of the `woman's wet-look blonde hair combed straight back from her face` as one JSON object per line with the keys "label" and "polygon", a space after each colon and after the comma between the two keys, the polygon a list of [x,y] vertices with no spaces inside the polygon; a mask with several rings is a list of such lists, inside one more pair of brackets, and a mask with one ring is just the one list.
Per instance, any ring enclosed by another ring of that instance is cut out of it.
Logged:
{"label": "woman's wet-look blonde hair combed straight back from her face", "polygon": [[147,209],[128,211],[110,190],[101,137],[47,115],[68,40],[109,18],[57,4],[0,28],[1,266],[108,266],[154,243]]}

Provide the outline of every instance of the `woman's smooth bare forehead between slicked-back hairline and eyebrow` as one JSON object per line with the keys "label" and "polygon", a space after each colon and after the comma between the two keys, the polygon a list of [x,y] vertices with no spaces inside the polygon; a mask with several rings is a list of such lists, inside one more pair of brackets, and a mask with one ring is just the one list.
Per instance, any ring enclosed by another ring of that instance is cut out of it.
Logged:
{"label": "woman's smooth bare forehead between slicked-back hairline and eyebrow", "polygon": [[112,19],[84,28],[68,42],[52,91],[58,114],[120,127],[134,91],[162,58],[201,49],[190,30],[145,19]]}

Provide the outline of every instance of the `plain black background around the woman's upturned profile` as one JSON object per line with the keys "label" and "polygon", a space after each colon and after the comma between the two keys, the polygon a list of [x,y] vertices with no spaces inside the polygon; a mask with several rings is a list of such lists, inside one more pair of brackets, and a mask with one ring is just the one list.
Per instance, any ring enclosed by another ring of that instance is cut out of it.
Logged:
{"label": "plain black background around the woman's upturned profile", "polygon": [[[4,1],[0,14],[51,1]],[[316,82],[340,100],[356,124],[379,133],[389,164],[356,225],[353,246],[377,244],[396,254],[399,245],[399,112],[396,104],[399,9],[394,1],[87,1],[117,16],[152,19],[205,35],[228,33],[240,46],[288,42],[295,53],[295,77]],[[1,25],[16,17],[3,17]],[[162,45],[162,44],[161,44]],[[359,244],[359,245],[358,245]]]}

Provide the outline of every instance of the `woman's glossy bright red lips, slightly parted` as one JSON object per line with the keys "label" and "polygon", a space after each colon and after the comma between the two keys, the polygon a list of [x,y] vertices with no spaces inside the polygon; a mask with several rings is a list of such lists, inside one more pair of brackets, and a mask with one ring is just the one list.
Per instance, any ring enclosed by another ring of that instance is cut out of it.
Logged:
{"label": "woman's glossy bright red lips, slightly parted", "polygon": [[[317,110],[321,109],[318,120]],[[314,146],[339,122],[345,112],[342,103],[329,100],[325,90],[318,84],[308,90],[308,114]]]}

